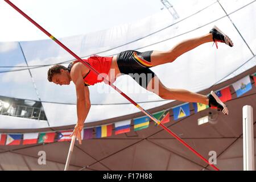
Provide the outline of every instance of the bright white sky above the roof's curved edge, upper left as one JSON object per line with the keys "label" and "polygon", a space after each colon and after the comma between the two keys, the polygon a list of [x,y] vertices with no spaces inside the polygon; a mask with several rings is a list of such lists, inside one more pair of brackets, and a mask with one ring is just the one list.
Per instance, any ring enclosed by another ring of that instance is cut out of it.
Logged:
{"label": "bright white sky above the roof's curved edge, upper left", "polygon": [[[158,13],[160,0],[11,0],[56,38],[105,30]],[[169,2],[172,2],[171,0]],[[0,42],[48,37],[0,0]]]}

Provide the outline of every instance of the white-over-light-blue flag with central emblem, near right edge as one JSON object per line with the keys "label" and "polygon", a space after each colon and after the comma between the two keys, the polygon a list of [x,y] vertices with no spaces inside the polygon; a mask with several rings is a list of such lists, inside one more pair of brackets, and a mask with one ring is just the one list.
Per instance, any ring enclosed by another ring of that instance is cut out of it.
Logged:
{"label": "white-over-light-blue flag with central emblem, near right edge", "polygon": [[238,80],[237,82],[234,82],[232,84],[234,87],[234,90],[236,90],[237,97],[242,96],[242,94],[248,92],[251,89],[251,81],[250,77],[246,76],[242,78],[241,80]]}

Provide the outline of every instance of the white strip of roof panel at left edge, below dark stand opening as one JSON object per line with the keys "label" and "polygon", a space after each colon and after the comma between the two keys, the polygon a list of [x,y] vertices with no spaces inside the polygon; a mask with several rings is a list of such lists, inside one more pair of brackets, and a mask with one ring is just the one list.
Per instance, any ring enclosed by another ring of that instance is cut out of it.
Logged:
{"label": "white strip of roof panel at left edge, below dark stand opening", "polygon": [[0,129],[40,129],[47,127],[47,121],[0,115]]}

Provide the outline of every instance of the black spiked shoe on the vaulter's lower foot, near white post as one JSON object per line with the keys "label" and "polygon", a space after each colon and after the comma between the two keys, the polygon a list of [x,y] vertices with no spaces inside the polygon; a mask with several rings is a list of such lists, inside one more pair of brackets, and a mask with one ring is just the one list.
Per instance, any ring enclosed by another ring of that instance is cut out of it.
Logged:
{"label": "black spiked shoe on the vaulter's lower foot, near white post", "polygon": [[208,94],[207,98],[209,99],[209,107],[217,107],[217,109],[219,111],[222,111],[222,113],[226,115],[229,114],[228,107],[226,107],[226,105],[220,100],[220,98],[218,98],[216,93],[211,91],[210,94]]}

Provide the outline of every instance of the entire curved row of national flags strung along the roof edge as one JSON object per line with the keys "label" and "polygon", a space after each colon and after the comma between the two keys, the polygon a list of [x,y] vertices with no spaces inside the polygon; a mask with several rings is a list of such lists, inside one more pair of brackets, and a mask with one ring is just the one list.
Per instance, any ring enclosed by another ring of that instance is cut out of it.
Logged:
{"label": "entire curved row of national flags strung along the roof edge", "polygon": [[[256,86],[256,73],[253,75],[253,79]],[[251,90],[252,85],[250,82],[250,77],[246,76],[241,80],[238,80],[232,84],[234,90],[236,91],[237,97],[241,97],[243,94]],[[222,88],[215,92],[222,102],[232,100],[232,94],[230,92],[230,87]],[[209,106],[201,103],[192,103],[195,113],[201,110],[207,109]],[[174,114],[174,120],[188,117],[190,115],[189,103],[185,103],[179,106],[171,108]],[[157,113],[152,114],[161,123],[170,122],[170,110],[162,110]],[[146,129],[150,124],[150,118],[146,115],[139,118],[134,118],[134,131]],[[96,127],[85,128],[82,130],[82,139],[92,139],[93,131],[96,131],[96,138],[110,137],[114,131],[115,135],[130,132],[131,119],[120,121]],[[0,145],[19,145],[23,140],[23,145],[26,144],[36,144],[36,143],[52,143],[52,142],[64,142],[69,141],[71,138],[69,135],[72,134],[72,130],[67,131],[55,131],[50,133],[24,133],[24,134],[1,134],[0,133]]]}

